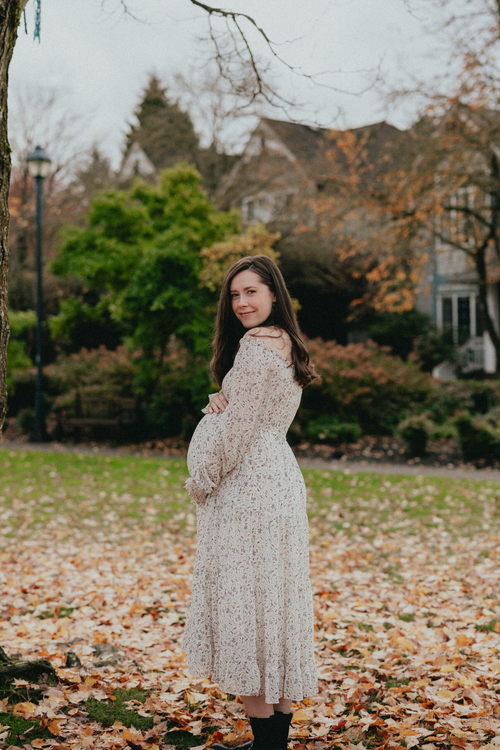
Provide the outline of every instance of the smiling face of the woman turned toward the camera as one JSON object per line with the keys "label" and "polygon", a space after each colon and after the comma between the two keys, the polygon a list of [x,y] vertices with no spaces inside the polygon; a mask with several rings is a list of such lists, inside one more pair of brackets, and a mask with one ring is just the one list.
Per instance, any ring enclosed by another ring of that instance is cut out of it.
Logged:
{"label": "smiling face of the woman turned toward the camera", "polygon": [[271,315],[276,296],[255,271],[241,271],[230,288],[232,311],[247,329],[261,326]]}

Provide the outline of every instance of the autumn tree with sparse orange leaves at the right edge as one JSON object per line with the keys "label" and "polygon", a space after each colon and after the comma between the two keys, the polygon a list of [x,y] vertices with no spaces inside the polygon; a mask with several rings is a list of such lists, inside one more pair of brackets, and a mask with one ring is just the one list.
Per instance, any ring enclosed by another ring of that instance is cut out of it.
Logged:
{"label": "autumn tree with sparse orange leaves at the right edge", "polygon": [[[421,5],[457,10],[447,0]],[[331,131],[331,174],[307,199],[311,219],[295,235],[319,275],[345,267],[364,282],[352,318],[367,308],[411,310],[439,255],[462,253],[500,363],[487,305],[487,286],[500,278],[500,3],[470,0],[462,10],[436,30],[453,37],[448,73],[394,94],[424,98],[413,127]]]}

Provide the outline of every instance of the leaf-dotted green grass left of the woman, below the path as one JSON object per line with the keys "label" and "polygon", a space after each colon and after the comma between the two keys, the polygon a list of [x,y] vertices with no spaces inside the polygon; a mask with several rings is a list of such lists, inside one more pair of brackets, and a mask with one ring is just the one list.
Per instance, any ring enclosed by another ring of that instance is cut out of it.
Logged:
{"label": "leaf-dotted green grass left of the woman, below the path", "polygon": [[0,529],[7,538],[54,526],[126,536],[139,524],[154,532],[168,523],[174,532],[194,532],[186,478],[183,460],[2,450]]}

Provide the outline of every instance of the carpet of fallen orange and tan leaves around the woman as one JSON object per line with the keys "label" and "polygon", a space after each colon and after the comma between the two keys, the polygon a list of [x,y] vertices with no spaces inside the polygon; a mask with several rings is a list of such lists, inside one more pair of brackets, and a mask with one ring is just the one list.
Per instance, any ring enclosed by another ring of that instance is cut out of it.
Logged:
{"label": "carpet of fallen orange and tan leaves around the woman", "polygon": [[[373,535],[319,518],[310,529],[319,694],[294,704],[290,742],[307,750],[499,750],[496,530],[470,538],[414,519]],[[114,533],[113,541],[7,540],[0,643],[19,658],[49,659],[58,685],[17,680],[27,700],[1,703],[0,734],[19,715],[52,733],[32,748],[179,744],[171,730],[199,746],[246,741],[241,700],[187,675],[181,635],[195,541],[139,528],[121,545],[119,526]],[[42,616],[47,610],[52,616]],[[64,666],[68,651],[81,668]],[[29,699],[34,688],[40,700]],[[133,689],[142,697],[125,709],[151,728],[89,718],[91,699],[110,703]]]}

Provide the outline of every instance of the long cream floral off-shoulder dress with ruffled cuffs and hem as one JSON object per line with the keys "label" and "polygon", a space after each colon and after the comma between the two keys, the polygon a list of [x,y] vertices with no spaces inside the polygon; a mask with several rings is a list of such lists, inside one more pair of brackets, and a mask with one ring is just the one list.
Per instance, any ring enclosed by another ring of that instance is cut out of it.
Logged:
{"label": "long cream floral off-shoulder dress with ruffled cuffs and hem", "polygon": [[198,547],[183,648],[224,691],[301,700],[318,691],[306,488],[286,432],[301,401],[292,365],[242,338],[229,402],[196,428],[186,488]]}

